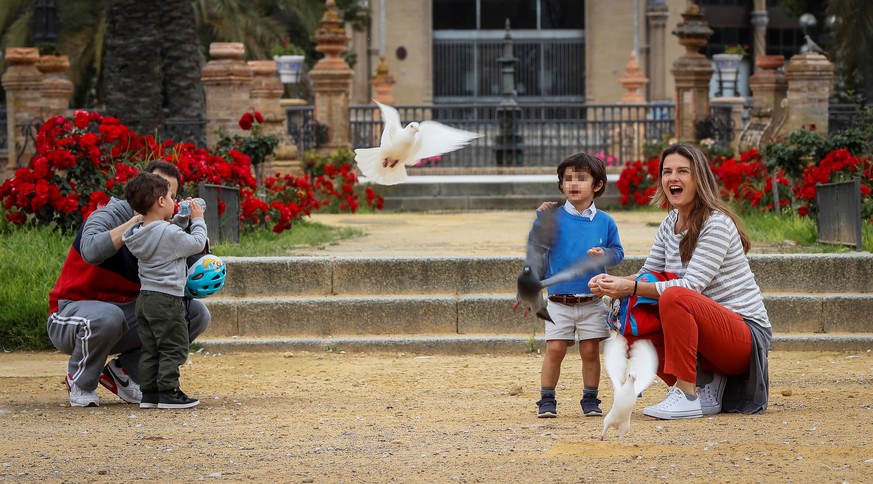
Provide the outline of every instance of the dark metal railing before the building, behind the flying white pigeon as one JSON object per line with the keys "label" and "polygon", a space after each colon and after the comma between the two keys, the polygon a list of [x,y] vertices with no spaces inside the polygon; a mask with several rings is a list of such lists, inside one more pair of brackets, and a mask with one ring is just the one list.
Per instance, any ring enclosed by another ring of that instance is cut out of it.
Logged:
{"label": "dark metal railing before the building, behind the flying white pigeon", "polygon": [[[435,120],[482,134],[469,146],[447,153],[441,167],[498,166],[495,141],[501,134],[498,104],[397,106],[401,122]],[[520,104],[517,134],[522,150],[514,166],[554,166],[567,155],[584,150],[598,154],[610,166],[643,158],[647,140],[661,140],[674,131],[671,104]],[[378,146],[382,120],[376,106],[351,107],[354,148]]]}

